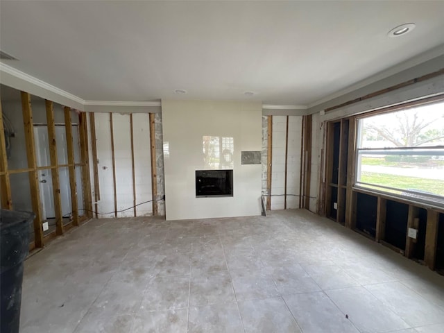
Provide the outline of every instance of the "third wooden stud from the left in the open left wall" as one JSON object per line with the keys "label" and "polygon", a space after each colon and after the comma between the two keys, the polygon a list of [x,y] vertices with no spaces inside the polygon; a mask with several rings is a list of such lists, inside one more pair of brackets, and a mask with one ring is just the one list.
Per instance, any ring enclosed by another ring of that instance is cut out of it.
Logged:
{"label": "third wooden stud from the left in the open left wall", "polygon": [[56,216],[56,234],[63,234],[63,219],[62,219],[62,198],[60,196],[60,177],[58,173],[58,156],[57,156],[57,142],[56,142],[56,123],[54,121],[54,107],[53,102],[45,100],[46,108],[46,123],[48,124],[48,144],[49,144],[49,158],[51,166],[56,167],[51,169],[51,178],[53,181],[53,198],[54,198],[54,214]]}

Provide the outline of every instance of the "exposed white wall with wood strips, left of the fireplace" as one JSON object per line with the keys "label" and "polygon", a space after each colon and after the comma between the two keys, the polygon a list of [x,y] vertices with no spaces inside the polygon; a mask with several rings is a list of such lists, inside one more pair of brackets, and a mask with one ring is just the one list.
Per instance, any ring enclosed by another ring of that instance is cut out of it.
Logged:
{"label": "exposed white wall with wood strips, left of the fireplace", "polygon": [[[99,160],[100,200],[98,202],[98,211],[100,213],[112,212],[112,214],[99,215],[98,217],[114,217],[110,113],[94,113],[94,117],[96,126],[97,158]],[[130,114],[113,113],[112,132],[114,140],[117,210],[124,210],[124,212],[118,212],[117,217],[134,216]],[[90,136],[91,135],[89,135],[89,137]],[[136,207],[136,215],[149,216],[153,213],[153,204],[151,202],[144,203],[152,199],[150,124],[148,114],[133,114],[133,141],[135,201],[136,205],[143,203]],[[92,161],[92,154],[90,155],[90,158]],[[90,172],[92,175],[91,183],[92,186],[94,186],[94,172],[92,171],[92,165]]]}

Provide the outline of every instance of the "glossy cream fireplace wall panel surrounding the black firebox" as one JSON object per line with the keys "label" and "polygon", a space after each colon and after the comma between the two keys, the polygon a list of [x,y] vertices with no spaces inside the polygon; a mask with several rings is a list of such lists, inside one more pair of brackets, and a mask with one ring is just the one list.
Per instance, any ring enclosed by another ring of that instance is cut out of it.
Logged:
{"label": "glossy cream fireplace wall panel surrounding the black firebox", "polygon": [[[162,101],[167,220],[259,215],[261,164],[241,165],[241,151],[261,151],[262,105],[223,101]],[[234,196],[196,198],[203,136],[234,139]]]}

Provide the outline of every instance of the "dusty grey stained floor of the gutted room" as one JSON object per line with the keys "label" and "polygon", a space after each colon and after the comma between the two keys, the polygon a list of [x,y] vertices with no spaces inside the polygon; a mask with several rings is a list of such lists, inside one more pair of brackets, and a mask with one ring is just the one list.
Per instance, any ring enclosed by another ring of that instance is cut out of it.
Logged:
{"label": "dusty grey stained floor of the gutted room", "polygon": [[25,262],[22,333],[444,332],[444,277],[305,210],[100,219]]}

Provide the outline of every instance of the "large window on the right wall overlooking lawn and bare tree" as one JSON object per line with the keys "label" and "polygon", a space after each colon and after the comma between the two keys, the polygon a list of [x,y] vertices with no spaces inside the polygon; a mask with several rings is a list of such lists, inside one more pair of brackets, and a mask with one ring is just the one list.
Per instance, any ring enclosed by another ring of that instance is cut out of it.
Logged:
{"label": "large window on the right wall overlooking lawn and bare tree", "polygon": [[358,119],[356,185],[444,204],[444,101]]}

